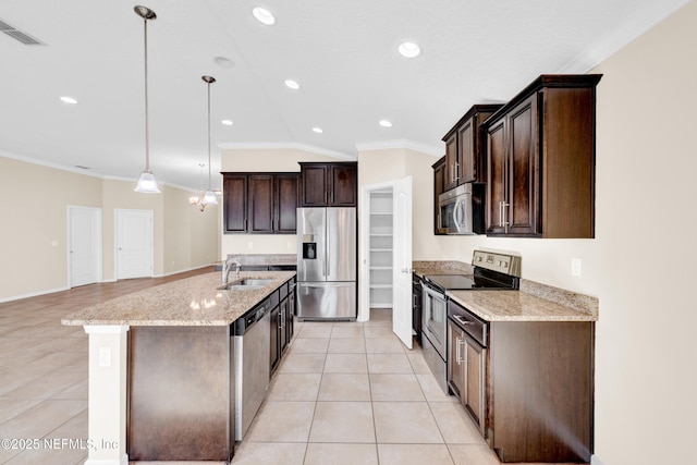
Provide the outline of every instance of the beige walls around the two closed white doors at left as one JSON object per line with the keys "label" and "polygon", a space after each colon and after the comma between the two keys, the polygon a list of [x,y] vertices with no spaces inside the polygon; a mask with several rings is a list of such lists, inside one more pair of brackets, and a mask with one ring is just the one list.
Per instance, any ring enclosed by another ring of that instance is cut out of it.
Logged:
{"label": "beige walls around the two closed white doors at left", "polygon": [[103,180],[9,156],[0,155],[0,302],[68,287],[69,206],[102,210],[103,281],[115,276],[114,209],[154,211],[154,276],[199,268],[220,255],[220,209],[209,206],[201,215],[188,206],[188,191],[162,185],[162,194],[138,194],[135,180]]}

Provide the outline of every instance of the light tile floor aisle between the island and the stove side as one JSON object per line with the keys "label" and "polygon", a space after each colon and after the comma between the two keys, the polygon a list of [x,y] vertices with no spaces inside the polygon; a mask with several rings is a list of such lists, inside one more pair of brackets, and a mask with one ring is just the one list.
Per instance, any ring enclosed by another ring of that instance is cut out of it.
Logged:
{"label": "light tile floor aisle between the island and the stove side", "polygon": [[498,465],[420,347],[394,335],[390,315],[296,323],[232,463]]}

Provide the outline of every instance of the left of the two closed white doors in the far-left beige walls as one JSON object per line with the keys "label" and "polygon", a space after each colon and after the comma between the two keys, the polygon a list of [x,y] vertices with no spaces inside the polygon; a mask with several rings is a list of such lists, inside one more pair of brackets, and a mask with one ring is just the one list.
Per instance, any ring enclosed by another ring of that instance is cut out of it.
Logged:
{"label": "left of the two closed white doors in the far-left beige walls", "polygon": [[69,207],[70,287],[101,281],[101,209]]}

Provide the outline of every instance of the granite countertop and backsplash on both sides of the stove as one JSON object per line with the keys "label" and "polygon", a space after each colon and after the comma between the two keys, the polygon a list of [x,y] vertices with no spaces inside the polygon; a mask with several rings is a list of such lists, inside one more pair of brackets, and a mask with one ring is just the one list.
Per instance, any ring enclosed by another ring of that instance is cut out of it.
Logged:
{"label": "granite countertop and backsplash on both sides of the stove", "polygon": [[[414,273],[472,273],[460,261],[414,261]],[[597,321],[598,298],[521,279],[519,291],[449,291],[448,296],[486,321]]]}

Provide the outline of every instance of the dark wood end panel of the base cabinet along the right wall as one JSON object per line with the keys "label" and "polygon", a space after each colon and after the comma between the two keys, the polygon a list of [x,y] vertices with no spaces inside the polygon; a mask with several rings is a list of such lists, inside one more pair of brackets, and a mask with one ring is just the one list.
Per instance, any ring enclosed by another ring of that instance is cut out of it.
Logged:
{"label": "dark wood end panel of the base cabinet along the right wall", "polygon": [[594,323],[492,322],[492,446],[501,462],[592,453]]}

